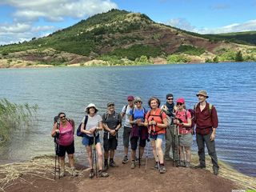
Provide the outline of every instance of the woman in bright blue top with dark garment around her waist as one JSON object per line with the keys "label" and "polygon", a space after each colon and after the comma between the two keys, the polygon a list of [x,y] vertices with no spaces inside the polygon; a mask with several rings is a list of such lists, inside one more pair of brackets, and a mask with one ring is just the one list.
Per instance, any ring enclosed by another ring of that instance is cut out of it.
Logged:
{"label": "woman in bright blue top with dark garment around her waist", "polygon": [[[146,139],[148,138],[147,129],[143,122],[145,121],[146,109],[142,106],[142,98],[134,98],[134,109],[130,110],[130,125],[132,126],[130,132],[130,146],[131,146],[131,164],[130,168],[135,168],[135,154],[139,140],[139,163],[142,159],[144,148],[146,146]],[[139,165],[140,166],[140,165]]]}

